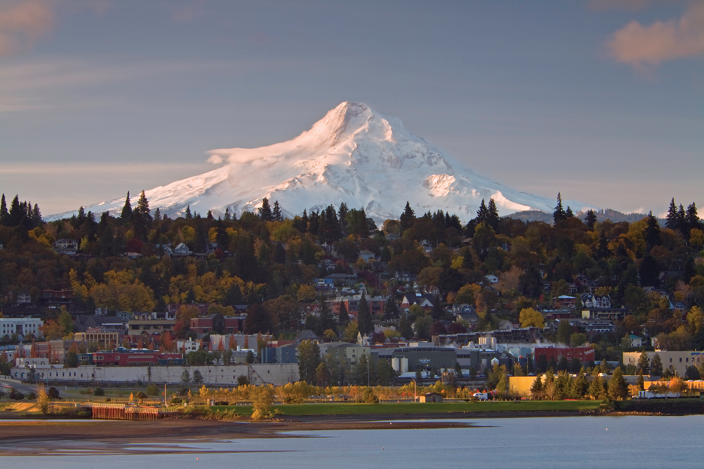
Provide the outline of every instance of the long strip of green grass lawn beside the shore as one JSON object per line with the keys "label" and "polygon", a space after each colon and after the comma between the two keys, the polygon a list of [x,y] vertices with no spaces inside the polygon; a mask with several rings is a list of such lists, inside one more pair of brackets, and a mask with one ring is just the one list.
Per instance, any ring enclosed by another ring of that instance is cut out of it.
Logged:
{"label": "long strip of green grass lawn beside the shore", "polygon": [[[598,409],[601,401],[497,401],[497,402],[402,402],[384,404],[354,404],[325,402],[320,404],[287,404],[272,406],[285,416],[365,415],[388,414],[420,415],[423,413],[463,413],[491,411],[577,411]],[[213,410],[235,409],[242,415],[252,413],[251,406],[213,406]],[[461,416],[458,416],[461,417]]]}

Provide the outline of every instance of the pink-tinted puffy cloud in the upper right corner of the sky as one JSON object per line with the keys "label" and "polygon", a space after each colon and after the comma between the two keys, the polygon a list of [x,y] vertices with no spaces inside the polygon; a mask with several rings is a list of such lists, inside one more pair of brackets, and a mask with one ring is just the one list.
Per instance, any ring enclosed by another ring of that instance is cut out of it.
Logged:
{"label": "pink-tinted puffy cloud in the upper right corner of the sky", "polygon": [[631,21],[606,44],[613,58],[635,67],[704,54],[704,2],[692,2],[679,20],[643,26]]}

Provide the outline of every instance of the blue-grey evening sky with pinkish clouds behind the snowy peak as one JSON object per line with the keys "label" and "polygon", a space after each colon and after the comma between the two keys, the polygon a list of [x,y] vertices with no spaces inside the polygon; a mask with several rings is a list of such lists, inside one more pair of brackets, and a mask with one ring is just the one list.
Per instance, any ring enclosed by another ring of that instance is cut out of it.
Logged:
{"label": "blue-grey evening sky with pinkish clouds behind the snowy peak", "polygon": [[703,6],[0,0],[0,191],[73,210],[362,101],[522,191],[702,204]]}

